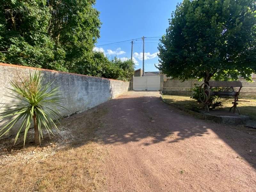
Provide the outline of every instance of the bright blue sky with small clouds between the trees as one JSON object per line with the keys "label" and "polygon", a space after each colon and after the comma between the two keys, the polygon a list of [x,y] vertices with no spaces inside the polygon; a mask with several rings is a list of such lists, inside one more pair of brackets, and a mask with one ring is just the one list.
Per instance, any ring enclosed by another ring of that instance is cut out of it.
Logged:
{"label": "bright blue sky with small clouds between the trees", "polygon": [[[129,39],[160,37],[165,34],[168,19],[181,0],[97,0],[102,22],[100,39],[95,51],[104,51],[112,58],[131,58],[131,41],[104,45]],[[145,71],[158,71],[157,42],[159,38],[145,38]],[[133,58],[136,68],[142,68],[142,39],[134,40]]]}

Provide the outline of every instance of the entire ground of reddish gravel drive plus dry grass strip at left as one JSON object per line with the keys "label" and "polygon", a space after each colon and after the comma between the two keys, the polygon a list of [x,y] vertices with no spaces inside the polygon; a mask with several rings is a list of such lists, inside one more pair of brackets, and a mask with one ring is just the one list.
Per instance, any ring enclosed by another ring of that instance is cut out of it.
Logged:
{"label": "entire ground of reddish gravel drive plus dry grass strip at left", "polygon": [[38,162],[26,154],[42,148],[0,141],[0,190],[256,191],[256,130],[188,116],[158,92],[127,92],[61,123],[70,136],[46,138],[52,152]]}

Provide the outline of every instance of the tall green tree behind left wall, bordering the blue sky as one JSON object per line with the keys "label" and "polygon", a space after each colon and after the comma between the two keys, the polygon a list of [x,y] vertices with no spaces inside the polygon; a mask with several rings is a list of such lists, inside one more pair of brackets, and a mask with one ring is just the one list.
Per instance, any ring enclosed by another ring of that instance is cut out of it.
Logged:
{"label": "tall green tree behind left wall, bordering the blue sky", "polygon": [[72,68],[90,57],[100,37],[100,12],[93,8],[96,0],[47,0],[51,11],[48,34],[65,52],[64,66]]}

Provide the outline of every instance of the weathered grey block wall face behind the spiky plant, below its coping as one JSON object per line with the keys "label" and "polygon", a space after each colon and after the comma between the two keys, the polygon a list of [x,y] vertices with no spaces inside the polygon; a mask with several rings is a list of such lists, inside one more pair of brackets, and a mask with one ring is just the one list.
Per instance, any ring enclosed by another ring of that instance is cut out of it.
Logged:
{"label": "weathered grey block wall face behind the spiky plant, below its coping", "polygon": [[[29,76],[29,71],[34,72],[36,68],[17,66],[0,63],[0,103],[13,103],[15,100],[8,97],[10,95],[9,81],[20,76]],[[59,86],[60,92],[65,98],[63,107],[68,110],[62,110],[62,116],[69,116],[86,109],[95,107],[110,99],[116,98],[127,92],[129,82],[106,79],[100,77],[92,77],[65,72],[58,72],[46,69],[37,69],[42,72],[44,81],[54,80],[52,88]],[[4,105],[1,104],[0,107]],[[1,124],[0,124],[1,127]],[[6,134],[6,137],[13,134],[15,130]]]}

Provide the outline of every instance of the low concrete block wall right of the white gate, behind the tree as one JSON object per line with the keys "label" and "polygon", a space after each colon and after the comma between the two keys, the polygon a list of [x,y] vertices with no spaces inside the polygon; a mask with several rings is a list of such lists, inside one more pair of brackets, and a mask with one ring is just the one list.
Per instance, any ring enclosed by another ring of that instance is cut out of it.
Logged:
{"label": "low concrete block wall right of the white gate, behind the tree", "polygon": [[[242,82],[243,88],[241,89],[241,96],[249,96],[256,97],[256,78],[252,78],[253,82],[247,82],[243,78],[239,79]],[[182,82],[178,79],[167,79],[164,81],[163,92],[165,94],[173,94],[173,95],[192,95],[191,88],[195,86],[195,84],[201,85],[203,82],[199,82],[197,80],[187,80]]]}

